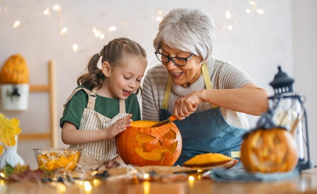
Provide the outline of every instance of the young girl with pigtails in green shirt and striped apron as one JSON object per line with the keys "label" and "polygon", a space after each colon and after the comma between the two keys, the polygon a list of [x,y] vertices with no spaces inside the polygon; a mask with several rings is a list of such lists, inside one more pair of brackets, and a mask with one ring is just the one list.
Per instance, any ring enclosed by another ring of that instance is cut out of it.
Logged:
{"label": "young girl with pigtails in green shirt and striped apron", "polygon": [[[102,68],[97,67],[102,57]],[[65,103],[60,119],[62,140],[83,148],[76,170],[94,171],[125,165],[114,136],[132,120],[141,120],[135,95],[147,65],[145,50],[128,38],[116,38],[89,61],[87,73]]]}

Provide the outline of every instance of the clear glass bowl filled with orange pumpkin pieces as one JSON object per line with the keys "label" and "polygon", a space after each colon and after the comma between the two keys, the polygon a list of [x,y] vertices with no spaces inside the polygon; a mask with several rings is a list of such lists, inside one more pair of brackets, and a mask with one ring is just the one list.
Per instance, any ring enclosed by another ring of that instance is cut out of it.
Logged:
{"label": "clear glass bowl filled with orange pumpkin pieces", "polygon": [[33,149],[39,169],[53,171],[75,170],[80,160],[82,148],[36,148]]}

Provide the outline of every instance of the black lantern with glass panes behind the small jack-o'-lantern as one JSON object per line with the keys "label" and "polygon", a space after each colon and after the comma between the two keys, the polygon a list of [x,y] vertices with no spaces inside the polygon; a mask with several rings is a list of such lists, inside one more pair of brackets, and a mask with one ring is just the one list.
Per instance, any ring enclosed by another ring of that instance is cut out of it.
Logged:
{"label": "black lantern with glass panes behind the small jack-o'-lantern", "polygon": [[313,168],[309,154],[304,96],[293,91],[295,79],[283,72],[281,66],[278,69],[279,72],[274,76],[274,80],[269,83],[274,89],[274,95],[268,98],[268,113],[272,116],[275,126],[285,127],[295,137],[298,148],[298,169],[301,171]]}

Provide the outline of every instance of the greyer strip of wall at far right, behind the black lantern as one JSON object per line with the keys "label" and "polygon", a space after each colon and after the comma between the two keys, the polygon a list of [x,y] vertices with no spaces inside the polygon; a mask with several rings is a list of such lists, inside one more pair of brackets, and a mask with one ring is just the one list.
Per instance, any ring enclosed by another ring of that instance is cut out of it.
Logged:
{"label": "greyer strip of wall at far right, behind the black lantern", "polygon": [[296,89],[306,96],[309,144],[316,165],[316,89],[317,89],[317,1],[293,1],[293,63]]}

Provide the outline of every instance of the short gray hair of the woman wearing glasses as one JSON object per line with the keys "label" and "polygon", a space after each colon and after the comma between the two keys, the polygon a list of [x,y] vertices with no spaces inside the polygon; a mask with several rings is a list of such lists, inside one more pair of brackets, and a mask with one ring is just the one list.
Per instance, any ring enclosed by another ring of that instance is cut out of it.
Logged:
{"label": "short gray hair of the woman wearing glasses", "polygon": [[160,23],[153,46],[157,49],[163,43],[202,57],[204,63],[211,56],[215,43],[214,20],[200,8],[173,9]]}

